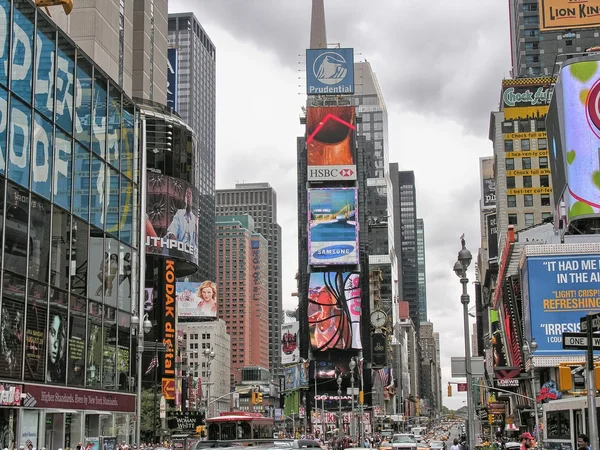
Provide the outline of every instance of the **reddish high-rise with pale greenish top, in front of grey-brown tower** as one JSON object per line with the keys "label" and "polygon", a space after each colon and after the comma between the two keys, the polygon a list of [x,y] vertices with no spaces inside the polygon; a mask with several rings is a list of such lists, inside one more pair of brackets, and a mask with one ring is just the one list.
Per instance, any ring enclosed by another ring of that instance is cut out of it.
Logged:
{"label": "reddish high-rise with pale greenish top, in front of grey-brown tower", "polygon": [[232,383],[241,370],[269,368],[268,244],[249,215],[217,216],[219,317],[231,336]]}

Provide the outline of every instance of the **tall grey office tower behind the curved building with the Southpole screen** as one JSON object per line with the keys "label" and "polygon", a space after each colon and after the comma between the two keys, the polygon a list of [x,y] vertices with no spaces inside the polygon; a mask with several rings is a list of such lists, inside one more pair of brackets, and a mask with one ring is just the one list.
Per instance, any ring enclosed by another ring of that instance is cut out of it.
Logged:
{"label": "tall grey office tower behind the curved building with the Southpole screen", "polygon": [[216,49],[194,14],[169,14],[169,59],[176,72],[168,96],[172,107],[196,133],[200,176],[198,248],[203,260],[194,278],[215,277]]}

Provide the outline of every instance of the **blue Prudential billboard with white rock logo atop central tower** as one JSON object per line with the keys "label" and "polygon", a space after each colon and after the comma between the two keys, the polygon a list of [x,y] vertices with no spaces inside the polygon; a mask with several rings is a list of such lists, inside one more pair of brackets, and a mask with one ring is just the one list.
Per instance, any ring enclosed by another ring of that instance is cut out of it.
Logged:
{"label": "blue Prudential billboard with white rock logo atop central tower", "polygon": [[354,49],[306,50],[308,95],[354,94]]}

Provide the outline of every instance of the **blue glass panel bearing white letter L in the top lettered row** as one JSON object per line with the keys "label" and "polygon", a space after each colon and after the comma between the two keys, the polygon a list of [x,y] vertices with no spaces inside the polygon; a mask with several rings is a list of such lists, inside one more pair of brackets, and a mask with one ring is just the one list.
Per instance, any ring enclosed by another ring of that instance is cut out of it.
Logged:
{"label": "blue glass panel bearing white letter L in the top lettered row", "polygon": [[35,107],[46,118],[52,120],[56,30],[41,14],[38,14],[36,35]]}

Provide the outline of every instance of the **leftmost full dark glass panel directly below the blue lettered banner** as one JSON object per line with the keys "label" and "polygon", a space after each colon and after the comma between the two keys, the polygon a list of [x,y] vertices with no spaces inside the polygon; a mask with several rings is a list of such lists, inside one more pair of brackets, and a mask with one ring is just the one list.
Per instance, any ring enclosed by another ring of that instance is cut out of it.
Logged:
{"label": "leftmost full dark glass panel directly below the blue lettered banner", "polygon": [[6,270],[20,274],[27,273],[28,222],[29,194],[14,184],[8,183],[4,243],[4,267],[7,268]]}

